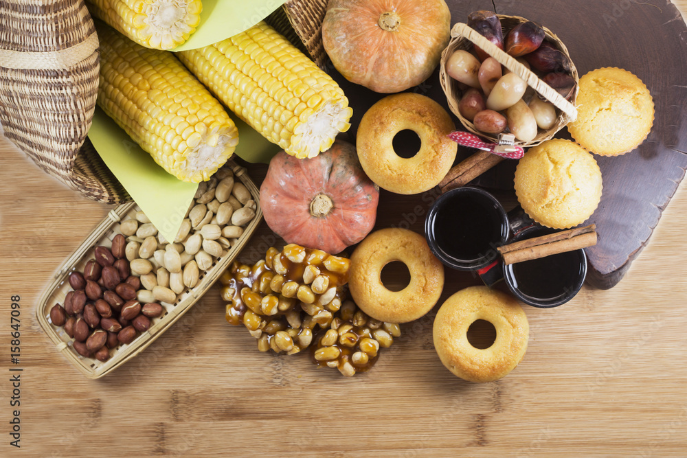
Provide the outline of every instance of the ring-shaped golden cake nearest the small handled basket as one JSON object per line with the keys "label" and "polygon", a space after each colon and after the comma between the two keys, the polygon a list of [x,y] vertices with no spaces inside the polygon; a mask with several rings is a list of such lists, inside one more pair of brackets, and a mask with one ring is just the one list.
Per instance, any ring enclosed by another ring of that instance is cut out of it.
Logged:
{"label": "ring-shaped golden cake nearest the small handled basket", "polygon": [[[422,142],[409,159],[394,151],[394,137],[412,130]],[[419,194],[438,185],[451,169],[458,144],[449,113],[425,95],[401,93],[383,98],[358,127],[356,148],[363,170],[379,187],[396,194]]]}

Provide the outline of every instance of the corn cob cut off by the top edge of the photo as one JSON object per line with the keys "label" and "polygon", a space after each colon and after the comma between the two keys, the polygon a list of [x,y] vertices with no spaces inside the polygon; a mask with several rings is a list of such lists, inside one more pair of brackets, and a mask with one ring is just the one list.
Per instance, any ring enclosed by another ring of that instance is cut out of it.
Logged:
{"label": "corn cob cut off by the top edge of the photo", "polygon": [[91,14],[139,45],[172,49],[196,30],[200,0],[87,0]]}

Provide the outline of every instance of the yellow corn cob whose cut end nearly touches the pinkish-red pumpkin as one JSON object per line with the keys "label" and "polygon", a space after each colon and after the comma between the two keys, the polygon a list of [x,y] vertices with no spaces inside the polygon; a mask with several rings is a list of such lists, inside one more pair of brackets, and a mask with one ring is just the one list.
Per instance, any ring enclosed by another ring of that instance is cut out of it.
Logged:
{"label": "yellow corn cob whose cut end nearly touches the pinkish-red pumpkin", "polygon": [[350,127],[339,85],[264,22],[178,54],[238,117],[295,157],[317,156]]}

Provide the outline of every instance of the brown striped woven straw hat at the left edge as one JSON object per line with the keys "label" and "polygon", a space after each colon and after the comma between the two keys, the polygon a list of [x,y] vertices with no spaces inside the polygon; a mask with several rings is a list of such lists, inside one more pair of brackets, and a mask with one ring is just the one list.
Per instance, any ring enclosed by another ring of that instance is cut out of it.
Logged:
{"label": "brown striped woven straw hat at the left edge", "polygon": [[0,3],[0,124],[43,170],[106,203],[131,200],[86,134],[98,36],[82,0]]}

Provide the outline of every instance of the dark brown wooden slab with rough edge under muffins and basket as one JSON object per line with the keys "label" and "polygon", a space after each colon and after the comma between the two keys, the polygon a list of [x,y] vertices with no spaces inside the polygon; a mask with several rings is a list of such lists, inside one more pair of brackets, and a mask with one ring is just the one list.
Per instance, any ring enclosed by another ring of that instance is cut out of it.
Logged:
{"label": "dark brown wooden slab with rough edge under muffins and basket", "polygon": [[[447,3],[452,23],[466,21],[471,11],[479,9],[495,9],[499,14],[538,21],[563,40],[581,75],[599,67],[621,67],[635,73],[649,87],[656,105],[655,124],[649,138],[638,150],[622,157],[597,157],[604,192],[596,213],[590,218],[598,227],[600,240],[596,247],[587,250],[591,267],[588,279],[597,288],[612,288],[648,242],[687,169],[687,25],[679,11],[667,0],[646,3],[448,0]],[[383,95],[351,84],[333,68],[330,70],[354,110],[348,132],[348,140],[354,143],[361,117]],[[410,91],[446,106],[436,73]],[[458,119],[454,117],[454,121],[460,128]],[[570,138],[565,129],[559,137]],[[470,150],[460,150],[458,160],[470,153]],[[503,163],[475,183],[512,192],[514,165],[513,161]],[[383,194],[379,225],[414,220],[407,215],[424,214],[431,201],[431,193],[414,197]],[[407,224],[421,232],[423,218],[417,219]]]}

